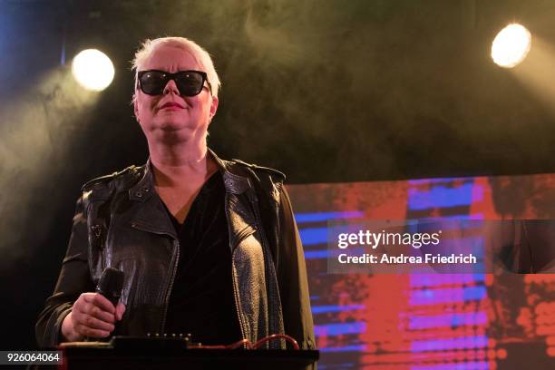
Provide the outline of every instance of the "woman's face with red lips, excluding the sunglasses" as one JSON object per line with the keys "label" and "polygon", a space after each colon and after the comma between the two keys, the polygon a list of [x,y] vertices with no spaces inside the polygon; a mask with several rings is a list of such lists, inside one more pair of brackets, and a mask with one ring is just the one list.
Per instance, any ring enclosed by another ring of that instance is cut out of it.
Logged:
{"label": "woman's face with red lips, excluding the sunglasses", "polygon": [[[189,52],[175,46],[160,46],[141,67],[141,71],[147,70],[175,73],[202,68]],[[142,93],[141,88],[135,93],[135,116],[149,142],[204,140],[218,109],[218,98],[211,96],[208,87],[196,96],[181,96],[175,82],[170,80],[160,95]]]}

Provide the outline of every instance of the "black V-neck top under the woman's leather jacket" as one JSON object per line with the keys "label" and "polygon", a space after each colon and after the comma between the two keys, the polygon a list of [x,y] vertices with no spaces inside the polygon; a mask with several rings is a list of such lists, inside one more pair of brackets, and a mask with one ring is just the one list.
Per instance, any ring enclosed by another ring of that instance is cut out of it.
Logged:
{"label": "black V-neck top under the woman's leather jacket", "polygon": [[229,345],[241,339],[225,193],[218,171],[204,183],[183,224],[168,211],[180,242],[180,259],[165,331],[190,333],[193,342],[206,345]]}

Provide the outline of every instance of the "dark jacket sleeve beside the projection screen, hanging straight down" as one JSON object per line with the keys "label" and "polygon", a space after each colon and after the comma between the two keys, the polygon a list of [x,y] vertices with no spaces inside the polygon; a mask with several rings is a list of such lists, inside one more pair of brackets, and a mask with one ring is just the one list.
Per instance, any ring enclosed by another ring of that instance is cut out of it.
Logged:
{"label": "dark jacket sleeve beside the projection screen, hanging straight down", "polygon": [[285,187],[282,187],[280,200],[277,281],[284,328],[287,335],[297,339],[302,349],[315,349],[305,255]]}

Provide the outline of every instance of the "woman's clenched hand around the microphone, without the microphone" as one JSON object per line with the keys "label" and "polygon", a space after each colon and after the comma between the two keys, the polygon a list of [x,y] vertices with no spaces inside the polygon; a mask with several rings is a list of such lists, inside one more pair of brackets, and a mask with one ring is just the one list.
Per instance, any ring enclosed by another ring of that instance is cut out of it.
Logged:
{"label": "woman's clenched hand around the microphone, without the microphone", "polygon": [[122,303],[113,307],[112,302],[102,294],[83,293],[73,303],[72,312],[63,319],[62,335],[70,342],[83,340],[85,336],[110,336],[124,312]]}

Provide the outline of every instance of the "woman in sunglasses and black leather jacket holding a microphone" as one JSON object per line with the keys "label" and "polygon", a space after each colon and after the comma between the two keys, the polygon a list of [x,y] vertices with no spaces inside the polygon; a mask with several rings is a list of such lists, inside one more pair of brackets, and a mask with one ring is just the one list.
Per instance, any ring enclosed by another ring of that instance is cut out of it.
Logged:
{"label": "woman in sunglasses and black leather jacket holding a microphone", "polygon": [[[147,40],[133,67],[150,159],[83,186],[54,295],[36,325],[39,345],[148,333],[254,343],[285,333],[314,348],[283,174],[222,161],[207,147],[220,86],[209,54],[181,37]],[[125,276],[116,307],[93,293],[107,267]]]}

